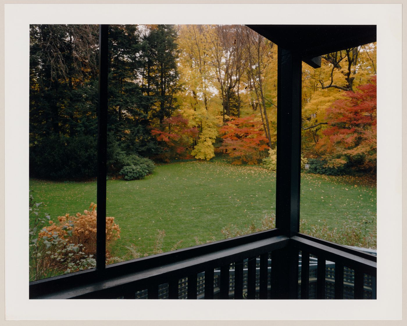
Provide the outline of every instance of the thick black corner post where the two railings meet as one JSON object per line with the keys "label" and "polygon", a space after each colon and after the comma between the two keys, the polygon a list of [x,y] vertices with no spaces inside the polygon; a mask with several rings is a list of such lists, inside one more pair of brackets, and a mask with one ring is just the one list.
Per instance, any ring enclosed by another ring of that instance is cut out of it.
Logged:
{"label": "thick black corner post where the two railings meet", "polygon": [[[300,230],[301,56],[278,47],[276,227],[288,237]],[[274,255],[280,299],[298,298],[298,250]],[[274,264],[274,263],[272,263]]]}

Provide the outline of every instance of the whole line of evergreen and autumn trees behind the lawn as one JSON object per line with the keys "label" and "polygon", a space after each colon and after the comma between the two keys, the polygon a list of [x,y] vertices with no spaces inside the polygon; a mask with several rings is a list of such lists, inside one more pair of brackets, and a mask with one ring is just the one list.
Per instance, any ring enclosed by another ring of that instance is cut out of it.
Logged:
{"label": "whole line of evergreen and autumn trees behind the lawn", "polygon": [[[97,62],[98,26],[30,26],[31,175],[95,175]],[[304,156],[375,170],[375,74],[375,44],[304,64]],[[109,173],[129,155],[255,164],[276,147],[277,46],[246,26],[110,25],[108,82]]]}

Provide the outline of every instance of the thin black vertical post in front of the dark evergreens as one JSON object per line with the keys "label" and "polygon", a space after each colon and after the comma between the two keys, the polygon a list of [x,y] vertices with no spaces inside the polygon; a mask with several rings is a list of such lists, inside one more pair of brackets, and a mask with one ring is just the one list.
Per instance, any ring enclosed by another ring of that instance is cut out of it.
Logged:
{"label": "thin black vertical post in front of the dark evergreens", "polygon": [[96,270],[106,267],[107,41],[109,25],[99,25],[98,175]]}

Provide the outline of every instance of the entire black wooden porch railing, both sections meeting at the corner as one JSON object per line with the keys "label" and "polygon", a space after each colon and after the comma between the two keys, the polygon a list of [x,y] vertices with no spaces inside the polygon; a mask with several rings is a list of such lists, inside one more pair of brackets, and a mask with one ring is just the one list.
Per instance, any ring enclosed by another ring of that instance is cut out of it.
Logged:
{"label": "entire black wooden porch railing, both sections meeting at the corner", "polygon": [[[317,257],[311,277],[310,254]],[[295,266],[287,274],[290,260]],[[287,275],[295,278],[284,285]],[[366,278],[374,283],[370,288]],[[292,288],[295,298],[352,298],[353,292],[363,299],[375,298],[366,295],[375,282],[375,256],[303,234],[288,238],[274,229],[108,265],[103,274],[83,271],[31,282],[30,298],[280,299],[291,298]]]}

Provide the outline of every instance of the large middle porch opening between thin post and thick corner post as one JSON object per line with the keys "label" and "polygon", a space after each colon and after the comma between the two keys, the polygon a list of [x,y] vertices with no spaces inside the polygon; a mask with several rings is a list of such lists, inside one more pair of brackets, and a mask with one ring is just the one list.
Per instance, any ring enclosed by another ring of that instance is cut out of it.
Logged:
{"label": "large middle porch opening between thin post and thick corner post", "polygon": [[107,264],[275,227],[276,85],[246,26],[109,26]]}

